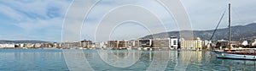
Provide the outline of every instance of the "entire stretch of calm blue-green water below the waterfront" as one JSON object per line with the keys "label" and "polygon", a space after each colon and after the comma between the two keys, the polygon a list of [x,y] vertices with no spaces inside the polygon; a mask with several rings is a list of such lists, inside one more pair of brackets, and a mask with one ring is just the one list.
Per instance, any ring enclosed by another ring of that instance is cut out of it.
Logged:
{"label": "entire stretch of calm blue-green water below the waterfront", "polygon": [[212,52],[1,49],[0,71],[256,70],[256,62],[216,58]]}

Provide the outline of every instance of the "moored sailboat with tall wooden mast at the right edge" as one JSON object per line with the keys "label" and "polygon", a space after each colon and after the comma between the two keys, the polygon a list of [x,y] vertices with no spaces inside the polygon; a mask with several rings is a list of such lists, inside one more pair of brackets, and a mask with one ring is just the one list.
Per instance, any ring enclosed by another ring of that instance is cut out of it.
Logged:
{"label": "moored sailboat with tall wooden mast at the right edge", "polygon": [[230,3],[229,3],[229,42],[228,50],[214,50],[218,58],[256,60],[256,50],[252,48],[234,48],[230,46]]}

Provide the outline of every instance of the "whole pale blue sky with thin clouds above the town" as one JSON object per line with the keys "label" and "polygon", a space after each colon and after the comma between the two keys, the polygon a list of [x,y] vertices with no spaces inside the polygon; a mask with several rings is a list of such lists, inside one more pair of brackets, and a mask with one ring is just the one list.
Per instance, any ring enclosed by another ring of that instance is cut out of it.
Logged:
{"label": "whole pale blue sky with thin clouds above the town", "polygon": [[[144,35],[180,30],[182,26],[178,26],[172,12],[170,14],[157,1],[160,0],[101,0],[97,3],[94,0],[2,0],[0,40],[66,41],[65,36],[78,39],[76,41],[96,41],[98,37],[134,40]],[[213,30],[228,3],[231,3],[232,26],[256,22],[255,0],[180,2],[189,16],[192,30]],[[90,8],[87,14],[86,8]],[[226,28],[227,20],[226,12],[218,28]],[[75,33],[63,35],[65,32]]]}

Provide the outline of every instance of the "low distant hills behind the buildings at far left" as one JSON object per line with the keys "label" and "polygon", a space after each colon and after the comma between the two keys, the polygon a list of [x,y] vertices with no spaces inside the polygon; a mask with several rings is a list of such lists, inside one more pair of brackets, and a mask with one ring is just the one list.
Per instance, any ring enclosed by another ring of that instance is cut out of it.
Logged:
{"label": "low distant hills behind the buildings at far left", "polygon": [[0,43],[44,43],[49,41],[6,41],[0,40]]}

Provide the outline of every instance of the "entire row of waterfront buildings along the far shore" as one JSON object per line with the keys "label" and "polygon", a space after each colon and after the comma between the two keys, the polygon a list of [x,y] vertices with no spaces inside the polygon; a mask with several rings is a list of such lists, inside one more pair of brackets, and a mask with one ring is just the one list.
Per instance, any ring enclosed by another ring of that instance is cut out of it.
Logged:
{"label": "entire row of waterfront buildings along the far shore", "polygon": [[[0,44],[0,48],[11,47],[26,47],[26,48],[111,48],[111,49],[128,49],[128,48],[167,48],[167,49],[189,49],[201,50],[207,41],[201,41],[200,38],[194,40],[178,39],[176,36],[169,38],[158,39],[137,39],[131,41],[106,41],[106,42],[93,42],[93,41],[77,41],[77,42],[60,42],[60,43],[20,43],[20,44]],[[255,42],[256,43],[256,42]]]}

